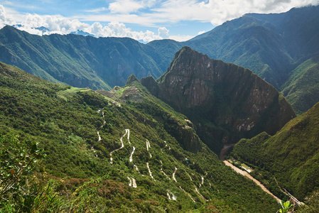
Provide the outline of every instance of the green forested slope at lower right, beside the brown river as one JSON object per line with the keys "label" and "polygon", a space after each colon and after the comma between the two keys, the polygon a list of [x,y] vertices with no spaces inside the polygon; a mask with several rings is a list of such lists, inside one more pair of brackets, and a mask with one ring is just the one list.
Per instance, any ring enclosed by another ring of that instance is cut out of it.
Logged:
{"label": "green forested slope at lower right, beside the brown river", "polygon": [[264,132],[252,139],[242,139],[234,146],[232,155],[256,166],[251,174],[278,197],[283,195],[276,180],[294,197],[303,200],[319,187],[318,122],[319,104],[315,104],[274,136]]}

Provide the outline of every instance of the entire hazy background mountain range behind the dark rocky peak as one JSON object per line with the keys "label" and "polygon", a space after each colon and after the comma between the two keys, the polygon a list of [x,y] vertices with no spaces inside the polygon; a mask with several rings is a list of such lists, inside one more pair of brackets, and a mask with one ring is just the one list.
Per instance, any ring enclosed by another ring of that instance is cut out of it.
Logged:
{"label": "entire hazy background mountain range behind the dark rocky peak", "polygon": [[[318,11],[319,6],[308,6],[279,14],[249,13],[185,42],[147,44],[130,38],[38,36],[6,26],[0,31],[0,60],[52,82],[111,89],[123,86],[131,74],[157,79],[186,45],[252,70],[282,91],[301,114],[319,101],[307,96],[317,89],[315,79],[303,80],[299,73],[299,66],[313,66],[318,58]],[[294,84],[302,91],[293,89]]]}

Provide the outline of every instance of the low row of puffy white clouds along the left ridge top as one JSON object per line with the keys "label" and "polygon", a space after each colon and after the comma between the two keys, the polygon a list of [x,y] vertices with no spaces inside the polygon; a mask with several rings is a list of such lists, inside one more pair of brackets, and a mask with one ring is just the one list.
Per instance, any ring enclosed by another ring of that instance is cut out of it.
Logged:
{"label": "low row of puffy white clouds along the left ridge top", "polygon": [[[0,5],[0,28],[4,27],[5,24],[15,24],[12,18],[6,15],[4,6]],[[27,13],[23,21],[18,22],[21,26],[17,28],[21,31],[27,31],[31,34],[36,35],[49,35],[53,33],[68,34],[74,31],[85,31],[93,34],[96,37],[129,37],[135,40],[142,40],[149,42],[151,40],[159,40],[168,38],[168,29],[165,27],[158,28],[158,34],[151,31],[132,31],[131,28],[126,28],[124,23],[112,21],[106,26],[103,26],[99,22],[94,22],[92,25],[83,23],[78,19],[70,19],[63,16],[40,16],[38,14]],[[41,26],[48,28],[50,31],[43,33],[37,30]]]}

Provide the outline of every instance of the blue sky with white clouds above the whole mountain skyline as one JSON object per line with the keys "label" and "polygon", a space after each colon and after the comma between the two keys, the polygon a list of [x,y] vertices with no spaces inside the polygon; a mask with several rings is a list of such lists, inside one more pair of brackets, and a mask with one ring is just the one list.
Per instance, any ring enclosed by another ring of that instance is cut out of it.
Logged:
{"label": "blue sky with white clouds above the whole mountain skyline", "polygon": [[[178,41],[245,13],[282,13],[319,0],[0,0],[0,28],[36,35],[85,31],[95,37]],[[48,28],[43,32],[36,28]]]}

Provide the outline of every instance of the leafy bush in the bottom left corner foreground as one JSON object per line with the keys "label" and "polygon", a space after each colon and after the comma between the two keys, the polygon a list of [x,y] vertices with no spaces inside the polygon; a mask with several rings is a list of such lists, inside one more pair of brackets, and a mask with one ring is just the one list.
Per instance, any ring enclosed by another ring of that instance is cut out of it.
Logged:
{"label": "leafy bush in the bottom left corner foreground", "polygon": [[19,140],[10,132],[0,138],[0,207],[9,200],[21,202],[28,193],[28,178],[45,157],[36,141]]}

